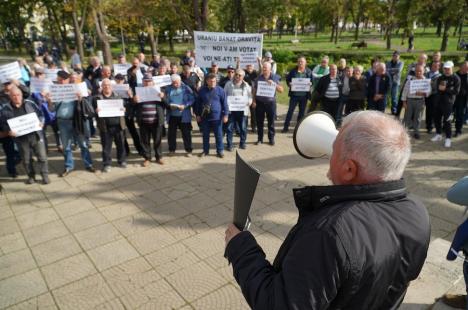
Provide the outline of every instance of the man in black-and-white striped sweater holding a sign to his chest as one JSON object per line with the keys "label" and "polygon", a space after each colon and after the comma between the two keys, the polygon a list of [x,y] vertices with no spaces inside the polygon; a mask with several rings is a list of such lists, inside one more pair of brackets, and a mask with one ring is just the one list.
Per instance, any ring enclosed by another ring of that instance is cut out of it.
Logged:
{"label": "man in black-and-white striped sweater holding a sign to his chest", "polygon": [[[161,69],[163,66],[160,66]],[[156,87],[151,73],[146,73],[143,78],[143,87]],[[164,98],[164,92],[159,89],[159,98],[152,101],[140,102],[138,96],[133,100],[137,104],[137,122],[140,127],[140,140],[143,148],[143,167],[148,167],[151,162],[151,138],[154,144],[154,155],[156,163],[164,165],[161,140],[164,126],[165,105],[161,101]]]}

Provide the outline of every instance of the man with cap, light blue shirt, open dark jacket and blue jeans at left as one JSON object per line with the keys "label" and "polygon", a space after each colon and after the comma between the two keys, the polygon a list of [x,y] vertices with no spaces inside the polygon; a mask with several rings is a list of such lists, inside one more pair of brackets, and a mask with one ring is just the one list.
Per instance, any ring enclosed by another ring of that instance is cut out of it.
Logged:
{"label": "man with cap, light blue shirt, open dark jacket and blue jeans at left", "polygon": [[[70,84],[70,74],[66,71],[59,71],[57,73],[58,84]],[[75,169],[75,162],[73,160],[72,142],[74,139],[78,142],[81,151],[81,159],[85,165],[86,170],[95,172],[93,167],[93,160],[87,143],[86,136],[88,133],[88,126],[86,122],[91,113],[94,114],[92,108],[85,102],[79,92],[76,94],[76,100],[52,102],[50,96],[47,96],[49,102],[49,109],[56,112],[57,126],[60,132],[60,139],[63,145],[63,156],[65,160],[65,169],[61,176],[69,175]]]}

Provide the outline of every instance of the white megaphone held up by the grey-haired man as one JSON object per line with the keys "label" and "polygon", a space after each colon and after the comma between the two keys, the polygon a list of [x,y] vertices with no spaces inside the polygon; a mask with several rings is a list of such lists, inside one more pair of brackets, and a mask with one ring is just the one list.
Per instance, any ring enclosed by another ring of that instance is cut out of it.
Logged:
{"label": "white megaphone held up by the grey-haired man", "polygon": [[315,111],[307,114],[294,129],[294,147],[302,157],[313,159],[333,151],[338,130],[330,114]]}

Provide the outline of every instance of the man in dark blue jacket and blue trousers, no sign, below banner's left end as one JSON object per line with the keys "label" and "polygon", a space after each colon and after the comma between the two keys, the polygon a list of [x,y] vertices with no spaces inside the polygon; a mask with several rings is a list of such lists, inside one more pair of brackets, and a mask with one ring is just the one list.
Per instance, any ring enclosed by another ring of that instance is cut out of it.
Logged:
{"label": "man in dark blue jacket and blue trousers, no sign, below banner's left end", "polygon": [[203,132],[203,152],[200,157],[210,152],[210,132],[213,130],[216,139],[216,156],[224,157],[223,124],[227,123],[229,107],[224,89],[216,85],[216,75],[207,75],[206,86],[200,88],[195,104],[197,122],[201,123]]}

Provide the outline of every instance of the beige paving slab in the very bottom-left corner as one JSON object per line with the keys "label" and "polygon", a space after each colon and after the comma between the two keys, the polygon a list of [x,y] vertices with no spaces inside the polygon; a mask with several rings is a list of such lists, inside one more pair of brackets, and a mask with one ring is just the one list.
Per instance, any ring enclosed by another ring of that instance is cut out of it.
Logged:
{"label": "beige paving slab in the very bottom-left corner", "polygon": [[0,281],[0,308],[44,294],[47,286],[38,269]]}

